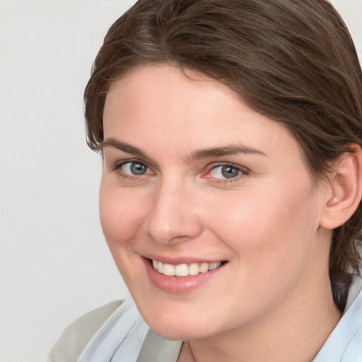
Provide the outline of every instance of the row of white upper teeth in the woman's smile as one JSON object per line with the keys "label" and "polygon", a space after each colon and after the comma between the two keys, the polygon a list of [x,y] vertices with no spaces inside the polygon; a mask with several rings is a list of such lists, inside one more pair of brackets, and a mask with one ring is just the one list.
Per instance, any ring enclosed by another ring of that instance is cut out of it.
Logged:
{"label": "row of white upper teeth in the woman's smile", "polygon": [[160,274],[167,276],[188,276],[206,273],[206,271],[214,270],[221,266],[221,262],[211,263],[191,263],[191,264],[164,264],[157,260],[152,260],[153,269],[156,269]]}

